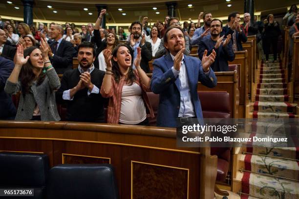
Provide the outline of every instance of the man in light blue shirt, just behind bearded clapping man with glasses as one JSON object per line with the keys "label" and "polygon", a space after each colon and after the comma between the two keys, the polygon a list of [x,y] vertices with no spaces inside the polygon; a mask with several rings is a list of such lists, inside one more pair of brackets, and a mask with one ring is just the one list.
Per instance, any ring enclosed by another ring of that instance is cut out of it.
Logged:
{"label": "man in light blue shirt, just behind bearded clapping man with glasses", "polygon": [[191,45],[198,45],[199,41],[211,38],[211,34],[210,34],[211,21],[212,21],[212,13],[205,12],[203,14],[204,25],[201,28],[197,28],[195,30],[191,40]]}

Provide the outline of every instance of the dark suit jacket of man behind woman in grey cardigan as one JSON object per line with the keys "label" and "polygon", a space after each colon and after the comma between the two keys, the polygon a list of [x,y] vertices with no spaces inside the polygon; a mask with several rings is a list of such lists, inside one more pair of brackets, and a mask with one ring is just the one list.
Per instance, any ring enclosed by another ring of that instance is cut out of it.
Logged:
{"label": "dark suit jacket of man behind woman in grey cardigan", "polygon": [[[55,42],[50,44],[52,52],[54,52]],[[62,40],[59,44],[56,54],[50,61],[57,74],[64,74],[65,71],[72,70],[73,57],[75,56],[73,44],[69,41]]]}

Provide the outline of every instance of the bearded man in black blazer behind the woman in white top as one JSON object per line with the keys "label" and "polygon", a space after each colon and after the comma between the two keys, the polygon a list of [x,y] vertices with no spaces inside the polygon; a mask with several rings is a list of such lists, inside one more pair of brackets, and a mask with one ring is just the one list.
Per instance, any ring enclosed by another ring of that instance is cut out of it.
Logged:
{"label": "bearded man in black blazer behind the woman in white top", "polygon": [[[132,56],[132,63],[137,57],[137,47],[139,46],[141,48],[140,66],[144,72],[149,73],[149,61],[152,59],[151,44],[148,41],[145,41],[145,35],[141,35],[142,25],[140,21],[132,22],[130,31],[130,40],[126,43],[126,45],[128,46]],[[133,67],[135,66],[133,65]]]}

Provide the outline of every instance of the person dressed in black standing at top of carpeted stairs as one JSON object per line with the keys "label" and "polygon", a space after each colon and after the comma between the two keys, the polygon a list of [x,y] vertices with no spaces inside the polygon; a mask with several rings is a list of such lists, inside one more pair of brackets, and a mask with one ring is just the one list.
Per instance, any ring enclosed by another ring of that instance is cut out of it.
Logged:
{"label": "person dressed in black standing at top of carpeted stairs", "polygon": [[266,62],[268,62],[270,47],[273,49],[274,62],[277,62],[277,43],[278,36],[281,35],[279,24],[274,20],[274,15],[269,14],[267,17],[267,23],[265,23],[265,37],[263,42],[265,43],[265,55]]}

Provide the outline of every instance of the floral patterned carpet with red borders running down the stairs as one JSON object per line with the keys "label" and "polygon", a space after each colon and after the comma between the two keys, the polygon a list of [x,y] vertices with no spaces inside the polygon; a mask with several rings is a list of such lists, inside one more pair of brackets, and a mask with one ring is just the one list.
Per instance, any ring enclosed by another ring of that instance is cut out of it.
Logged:
{"label": "floral patterned carpet with red borders running down the stairs", "polygon": [[[279,122],[297,118],[297,104],[290,102],[281,61],[262,62],[256,77],[256,101],[250,107],[252,117],[275,119],[278,123],[268,126],[267,133],[285,135],[287,127]],[[264,132],[265,124],[255,125],[255,135],[261,130]],[[241,199],[299,199],[299,148],[247,147],[247,153],[239,161],[246,170],[242,177],[242,193],[250,195],[241,195]]]}

